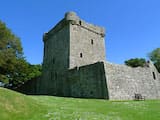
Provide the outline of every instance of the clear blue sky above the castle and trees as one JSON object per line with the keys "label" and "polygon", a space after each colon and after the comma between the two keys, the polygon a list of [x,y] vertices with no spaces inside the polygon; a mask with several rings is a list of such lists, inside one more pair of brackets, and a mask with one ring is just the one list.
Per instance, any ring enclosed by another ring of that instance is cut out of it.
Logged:
{"label": "clear blue sky above the castle and trees", "polygon": [[123,64],[160,47],[160,0],[0,0],[0,20],[21,38],[32,64],[43,60],[42,35],[75,11],[106,29],[106,59]]}

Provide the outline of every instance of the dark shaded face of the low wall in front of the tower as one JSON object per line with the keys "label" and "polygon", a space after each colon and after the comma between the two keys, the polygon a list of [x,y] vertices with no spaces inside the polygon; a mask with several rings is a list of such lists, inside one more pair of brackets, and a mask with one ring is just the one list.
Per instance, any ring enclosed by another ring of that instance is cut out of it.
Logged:
{"label": "dark shaded face of the low wall in front of the tower", "polygon": [[64,96],[108,99],[103,62],[70,69],[65,76]]}

